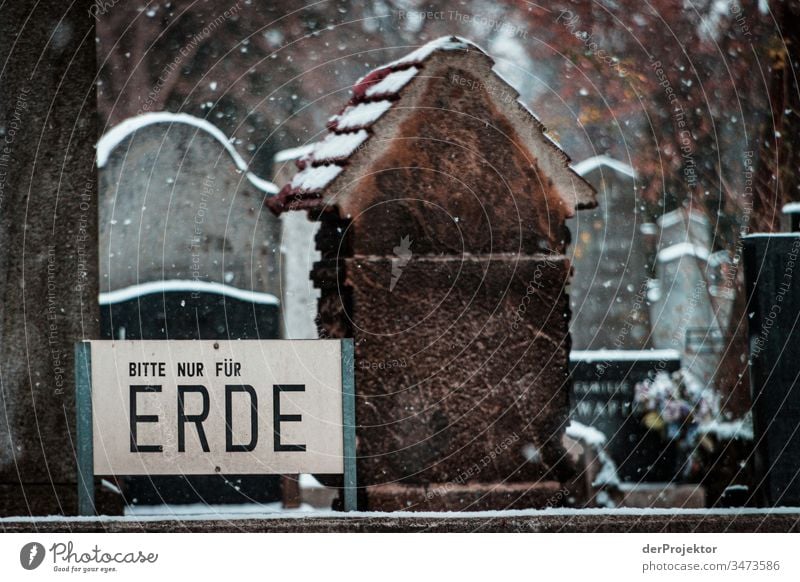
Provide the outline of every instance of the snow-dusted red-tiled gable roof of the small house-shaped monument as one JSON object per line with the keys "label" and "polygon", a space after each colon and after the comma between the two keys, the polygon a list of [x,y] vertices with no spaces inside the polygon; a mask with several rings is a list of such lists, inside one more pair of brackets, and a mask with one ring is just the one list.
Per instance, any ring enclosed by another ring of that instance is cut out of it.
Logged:
{"label": "snow-dusted red-tiled gable roof of the small house-shaped monument", "polygon": [[[494,61],[474,43],[455,36],[442,37],[418,48],[405,57],[383,65],[356,81],[352,97],[347,105],[328,120],[328,134],[320,141],[309,144],[305,153],[296,160],[299,169],[277,196],[269,198],[267,205],[275,213],[286,210],[323,208],[326,202],[323,194],[350,165],[351,158],[368,146],[374,127],[385,114],[402,99],[405,89],[413,84],[426,64],[434,55],[477,54]],[[491,71],[497,82],[507,87],[505,94],[518,93]],[[424,75],[419,75],[423,77]],[[524,120],[533,125],[533,132],[542,142],[540,147],[531,148],[534,158],[540,162],[542,170],[555,182],[559,193],[568,200],[573,209],[593,208],[597,205],[594,189],[570,167],[569,157],[545,133],[538,118],[518,100],[517,107],[524,109]],[[544,162],[541,164],[541,162]]]}

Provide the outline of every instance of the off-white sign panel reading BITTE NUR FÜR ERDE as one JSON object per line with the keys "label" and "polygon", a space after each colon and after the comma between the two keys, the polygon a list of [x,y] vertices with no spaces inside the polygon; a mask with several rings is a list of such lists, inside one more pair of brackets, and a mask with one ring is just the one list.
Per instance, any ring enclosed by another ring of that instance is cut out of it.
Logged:
{"label": "off-white sign panel reading BITTE NUR F\u00dcR ERDE", "polygon": [[97,475],[343,473],[338,340],[91,342]]}

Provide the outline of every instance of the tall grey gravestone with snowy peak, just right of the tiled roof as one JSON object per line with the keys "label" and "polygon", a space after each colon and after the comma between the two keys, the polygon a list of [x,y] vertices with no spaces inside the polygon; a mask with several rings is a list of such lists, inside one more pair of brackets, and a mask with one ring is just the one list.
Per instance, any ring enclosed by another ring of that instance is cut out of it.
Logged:
{"label": "tall grey gravestone with snowy peak, just right of the tiled roof", "polygon": [[600,205],[567,221],[570,327],[573,348],[643,350],[650,345],[648,256],[636,195],[636,173],[608,156],[595,156],[573,169],[598,192]]}

